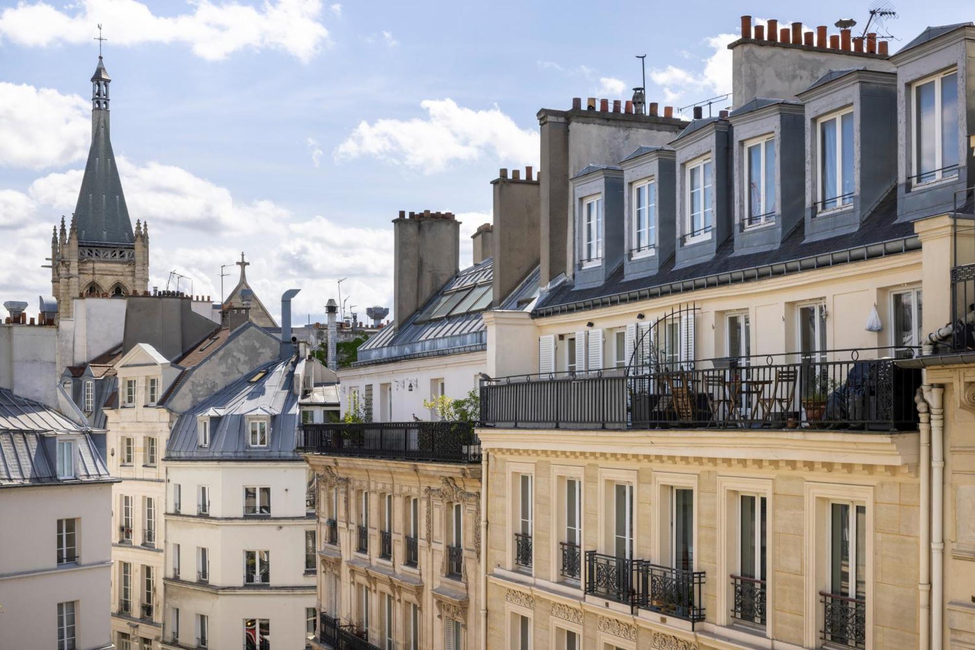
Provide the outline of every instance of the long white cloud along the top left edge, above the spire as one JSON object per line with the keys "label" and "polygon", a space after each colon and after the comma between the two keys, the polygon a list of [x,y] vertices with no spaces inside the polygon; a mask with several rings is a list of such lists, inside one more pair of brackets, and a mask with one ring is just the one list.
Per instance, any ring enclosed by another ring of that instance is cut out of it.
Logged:
{"label": "long white cloud along the top left edge, above the spire", "polygon": [[[109,44],[186,43],[217,61],[244,49],[278,49],[309,61],[327,42],[321,0],[266,0],[259,7],[198,0],[191,13],[156,16],[137,0],[82,0],[59,10],[43,1],[20,2],[0,13],[0,40],[47,47],[90,43],[96,23]],[[334,9],[332,9],[334,11]]]}

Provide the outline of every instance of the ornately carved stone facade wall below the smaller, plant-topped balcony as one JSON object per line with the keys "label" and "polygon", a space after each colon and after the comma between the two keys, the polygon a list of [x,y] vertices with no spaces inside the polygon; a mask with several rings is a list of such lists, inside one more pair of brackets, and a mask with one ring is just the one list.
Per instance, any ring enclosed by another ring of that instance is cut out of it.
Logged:
{"label": "ornately carved stone facade wall below the smaller, plant-topped balcony", "polygon": [[[481,633],[481,466],[448,463],[411,463],[393,460],[335,458],[309,454],[308,464],[319,476],[321,611],[337,616],[343,625],[358,625],[356,587],[370,592],[369,640],[382,646],[382,594],[394,598],[393,638],[396,648],[409,648],[408,605],[419,608],[419,647],[445,647],[445,622],[463,626],[464,648],[478,647]],[[337,497],[336,492],[337,491]],[[357,495],[369,493],[369,544],[357,549]],[[381,495],[393,495],[392,556],[379,556]],[[409,533],[408,499],[418,499],[419,537],[416,567],[405,564]],[[333,504],[337,502],[337,512]],[[448,508],[461,505],[463,571],[461,579],[447,576]],[[328,543],[327,522],[337,521],[338,544]],[[335,576],[337,603],[330,602],[328,581]],[[337,604],[337,608],[335,605]],[[337,612],[336,612],[337,609]],[[318,644],[317,644],[318,645]],[[456,648],[455,650],[462,650]]]}

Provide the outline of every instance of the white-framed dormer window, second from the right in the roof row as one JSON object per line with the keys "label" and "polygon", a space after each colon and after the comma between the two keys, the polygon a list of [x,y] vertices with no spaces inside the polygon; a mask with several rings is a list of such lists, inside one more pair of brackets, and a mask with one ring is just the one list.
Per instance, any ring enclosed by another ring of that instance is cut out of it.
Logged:
{"label": "white-framed dormer window, second from the right in the roof row", "polygon": [[853,201],[853,111],[820,118],[819,209],[833,210]]}

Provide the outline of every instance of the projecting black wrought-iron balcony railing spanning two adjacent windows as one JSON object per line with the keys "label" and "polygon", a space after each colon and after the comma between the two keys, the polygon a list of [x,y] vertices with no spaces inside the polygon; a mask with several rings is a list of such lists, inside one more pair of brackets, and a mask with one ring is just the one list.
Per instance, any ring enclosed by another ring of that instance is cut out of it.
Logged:
{"label": "projecting black wrought-iron balcony railing spanning two adjacent windows", "polygon": [[674,616],[704,620],[704,572],[586,551],[586,593]]}

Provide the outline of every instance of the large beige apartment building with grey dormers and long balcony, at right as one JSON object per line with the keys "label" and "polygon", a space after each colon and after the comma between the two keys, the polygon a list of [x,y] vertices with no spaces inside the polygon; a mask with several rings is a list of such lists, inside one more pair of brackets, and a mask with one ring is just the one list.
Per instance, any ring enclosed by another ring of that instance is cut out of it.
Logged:
{"label": "large beige apartment building with grey dormers and long balcony, at right", "polygon": [[482,648],[975,642],[975,26],[888,56],[742,22],[730,112],[538,113],[542,291],[485,316]]}

